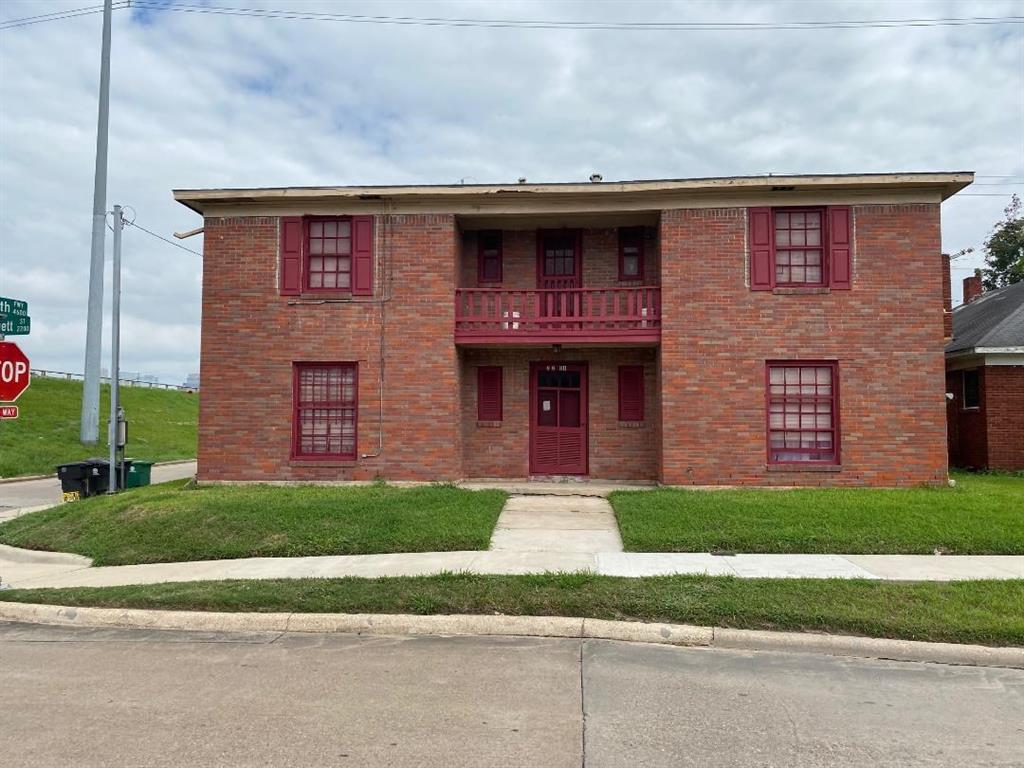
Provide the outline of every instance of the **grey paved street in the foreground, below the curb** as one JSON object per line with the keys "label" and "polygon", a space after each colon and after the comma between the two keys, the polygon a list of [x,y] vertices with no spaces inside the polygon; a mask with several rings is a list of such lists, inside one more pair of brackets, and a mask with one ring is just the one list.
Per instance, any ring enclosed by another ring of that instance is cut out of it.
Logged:
{"label": "grey paved street in the foreground, below the curb", "polygon": [[1024,766],[1024,671],[0,624],[15,766]]}

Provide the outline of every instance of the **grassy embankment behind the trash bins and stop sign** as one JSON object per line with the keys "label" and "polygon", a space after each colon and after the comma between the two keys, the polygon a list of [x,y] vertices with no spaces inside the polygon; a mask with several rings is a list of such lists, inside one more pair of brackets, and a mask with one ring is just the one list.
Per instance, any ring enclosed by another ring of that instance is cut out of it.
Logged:
{"label": "grassy embankment behind the trash bins and stop sign", "polygon": [[[128,416],[128,456],[150,461],[196,456],[199,395],[122,387]],[[100,443],[79,441],[82,382],[35,377],[18,398],[16,420],[0,421],[0,477],[55,473],[57,464],[106,455],[110,387],[100,390]]]}

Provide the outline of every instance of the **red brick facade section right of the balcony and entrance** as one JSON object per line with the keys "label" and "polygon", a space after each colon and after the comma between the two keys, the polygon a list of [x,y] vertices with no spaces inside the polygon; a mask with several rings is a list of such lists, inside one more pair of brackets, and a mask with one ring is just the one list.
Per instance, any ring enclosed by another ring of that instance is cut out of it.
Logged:
{"label": "red brick facade section right of the balcony and entrance", "polygon": [[[743,285],[745,211],[662,217],[663,480],[912,484],[946,477],[938,205],[854,208],[852,291]],[[842,467],[766,466],[766,359],[838,359]]]}

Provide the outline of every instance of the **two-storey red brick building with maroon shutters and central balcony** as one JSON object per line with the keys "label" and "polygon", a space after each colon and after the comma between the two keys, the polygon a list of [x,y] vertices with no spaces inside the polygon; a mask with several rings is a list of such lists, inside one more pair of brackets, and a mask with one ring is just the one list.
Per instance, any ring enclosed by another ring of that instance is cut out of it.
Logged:
{"label": "two-storey red brick building with maroon shutters and central balcony", "polygon": [[970,173],[177,190],[201,480],[946,479]]}

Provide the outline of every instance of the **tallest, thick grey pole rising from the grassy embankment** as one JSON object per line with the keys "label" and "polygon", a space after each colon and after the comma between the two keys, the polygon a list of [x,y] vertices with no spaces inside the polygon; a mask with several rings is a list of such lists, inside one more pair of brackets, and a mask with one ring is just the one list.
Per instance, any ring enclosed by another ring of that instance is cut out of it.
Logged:
{"label": "tallest, thick grey pole rising from the grassy embankment", "polygon": [[103,0],[103,40],[99,58],[99,116],[96,121],[96,173],[92,187],[92,257],[89,261],[89,314],[85,329],[85,385],[82,388],[82,442],[99,439],[99,358],[103,334],[103,246],[106,226],[106,134],[111,109],[111,14]]}

